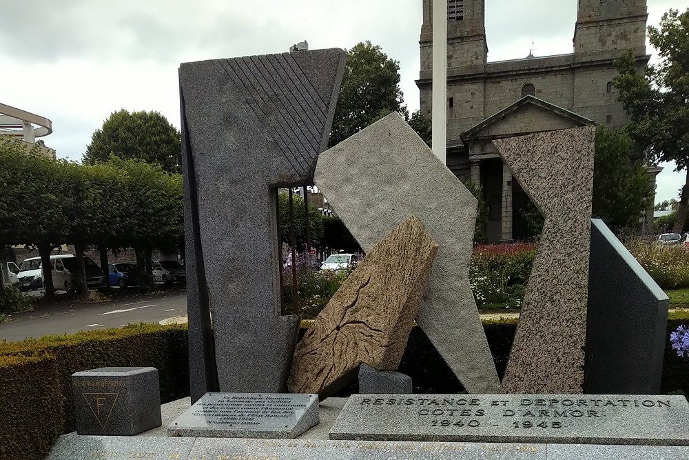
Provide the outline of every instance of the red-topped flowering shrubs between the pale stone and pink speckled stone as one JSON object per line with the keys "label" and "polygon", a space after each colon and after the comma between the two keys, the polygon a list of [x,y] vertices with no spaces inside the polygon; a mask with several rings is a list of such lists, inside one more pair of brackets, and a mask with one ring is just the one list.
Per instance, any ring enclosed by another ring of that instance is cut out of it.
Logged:
{"label": "red-topped flowering shrubs between the pale stone and pink speckled stone", "polygon": [[469,282],[479,308],[519,308],[531,274],[533,243],[476,246]]}

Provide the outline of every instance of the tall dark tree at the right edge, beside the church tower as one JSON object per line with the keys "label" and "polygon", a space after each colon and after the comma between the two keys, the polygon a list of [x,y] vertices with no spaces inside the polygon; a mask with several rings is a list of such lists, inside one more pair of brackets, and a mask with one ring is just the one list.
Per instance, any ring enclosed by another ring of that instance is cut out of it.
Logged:
{"label": "tall dark tree at the right edge, beside the church tower", "polygon": [[673,229],[679,232],[689,203],[689,10],[670,10],[660,28],[648,28],[648,36],[661,63],[646,66],[644,76],[634,54],[626,52],[615,61],[619,75],[613,84],[630,116],[626,130],[637,146],[652,161],[674,161],[675,170],[686,170]]}

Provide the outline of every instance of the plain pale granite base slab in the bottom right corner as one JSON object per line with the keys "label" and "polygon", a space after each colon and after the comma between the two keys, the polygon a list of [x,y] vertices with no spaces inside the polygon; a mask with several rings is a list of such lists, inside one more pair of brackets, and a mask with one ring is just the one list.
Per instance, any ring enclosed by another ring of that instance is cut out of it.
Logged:
{"label": "plain pale granite base slab in the bottom right corner", "polygon": [[590,446],[548,444],[548,460],[686,460],[683,446]]}

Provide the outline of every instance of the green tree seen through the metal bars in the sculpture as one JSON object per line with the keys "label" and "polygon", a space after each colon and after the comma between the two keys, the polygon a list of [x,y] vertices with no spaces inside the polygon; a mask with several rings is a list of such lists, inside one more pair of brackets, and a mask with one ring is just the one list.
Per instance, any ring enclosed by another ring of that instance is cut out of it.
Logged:
{"label": "green tree seen through the metal bars in the sculpture", "polygon": [[[289,194],[278,194],[278,210],[280,213],[280,239],[282,243],[291,244],[289,237]],[[302,252],[306,248],[306,216],[304,214],[304,200],[297,194],[292,197],[292,208],[294,214],[294,239],[296,241],[297,252]],[[309,237],[311,247],[319,248],[323,238],[323,220],[316,206],[309,208]]]}

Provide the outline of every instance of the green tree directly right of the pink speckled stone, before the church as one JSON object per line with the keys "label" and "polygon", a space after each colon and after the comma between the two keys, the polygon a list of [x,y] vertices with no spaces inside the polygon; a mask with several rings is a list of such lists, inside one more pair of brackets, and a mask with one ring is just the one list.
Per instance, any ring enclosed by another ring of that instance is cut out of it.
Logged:
{"label": "green tree directly right of the pink speckled stone, before the church", "polygon": [[630,161],[634,143],[621,130],[596,130],[593,170],[593,217],[619,233],[635,228],[652,199],[648,172],[641,161]]}

